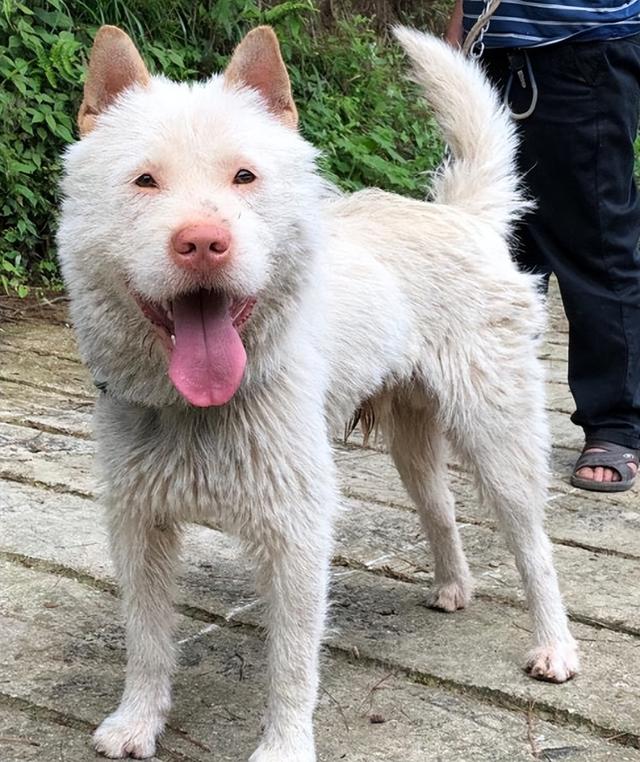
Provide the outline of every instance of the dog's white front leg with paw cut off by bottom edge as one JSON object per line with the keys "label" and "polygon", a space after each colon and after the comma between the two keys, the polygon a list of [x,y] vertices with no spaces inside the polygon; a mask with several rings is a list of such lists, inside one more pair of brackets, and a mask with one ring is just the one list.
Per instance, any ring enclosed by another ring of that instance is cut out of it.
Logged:
{"label": "dog's white front leg with paw cut off by bottom edge", "polygon": [[316,759],[312,723],[331,543],[327,506],[310,513],[300,518],[303,531],[292,526],[275,546],[272,535],[259,556],[268,603],[268,706],[262,743],[250,762]]}

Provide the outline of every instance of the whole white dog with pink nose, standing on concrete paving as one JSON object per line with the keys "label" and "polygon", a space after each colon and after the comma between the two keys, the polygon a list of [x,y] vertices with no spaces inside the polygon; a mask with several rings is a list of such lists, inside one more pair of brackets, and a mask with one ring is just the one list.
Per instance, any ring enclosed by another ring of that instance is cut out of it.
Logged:
{"label": "whole white dog with pink nose, standing on concrete paving", "polygon": [[561,682],[577,670],[542,527],[541,308],[506,242],[524,208],[513,129],[475,64],[397,35],[453,151],[434,203],[327,189],[268,28],[195,85],[150,77],[116,28],[96,37],[59,245],[82,354],[105,385],[96,436],[128,648],[122,703],[95,734],[109,757],[154,753],[181,527],[207,519],[246,543],[268,602],[251,761],[315,760],[338,505],[328,431],[363,405],[431,541],[431,604],[471,595],[446,437],[516,555],[528,671]]}

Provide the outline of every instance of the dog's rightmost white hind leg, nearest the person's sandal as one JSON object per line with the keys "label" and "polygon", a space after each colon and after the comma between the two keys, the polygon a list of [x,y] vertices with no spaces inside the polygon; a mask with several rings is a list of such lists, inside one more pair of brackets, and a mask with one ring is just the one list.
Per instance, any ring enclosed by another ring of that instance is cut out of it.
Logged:
{"label": "dog's rightmost white hind leg, nearest the person's sandal", "polygon": [[[577,672],[578,657],[543,526],[549,442],[544,397],[537,368],[526,359],[519,365],[487,373],[485,383],[473,388],[459,387],[450,408],[451,433],[515,555],[533,619],[527,672],[564,682]],[[489,376],[493,381],[487,383]]]}

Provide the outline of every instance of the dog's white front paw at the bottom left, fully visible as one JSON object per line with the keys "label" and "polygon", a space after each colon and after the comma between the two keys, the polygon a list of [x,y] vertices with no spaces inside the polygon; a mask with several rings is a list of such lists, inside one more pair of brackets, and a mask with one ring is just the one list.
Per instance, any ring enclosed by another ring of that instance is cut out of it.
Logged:
{"label": "dog's white front paw at the bottom left, fully visible", "polygon": [[162,720],[141,720],[114,712],[93,734],[93,745],[109,759],[146,759],[154,755],[163,725]]}

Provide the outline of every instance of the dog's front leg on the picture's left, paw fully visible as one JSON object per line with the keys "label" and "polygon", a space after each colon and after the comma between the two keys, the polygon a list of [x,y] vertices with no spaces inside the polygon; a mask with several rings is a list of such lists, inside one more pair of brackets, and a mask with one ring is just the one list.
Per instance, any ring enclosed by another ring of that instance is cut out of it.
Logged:
{"label": "dog's front leg on the picture's left, paw fully visible", "polygon": [[127,677],[120,706],[96,730],[94,743],[113,759],[143,759],[153,756],[171,705],[179,530],[125,509],[111,512],[110,532],[127,619]]}

